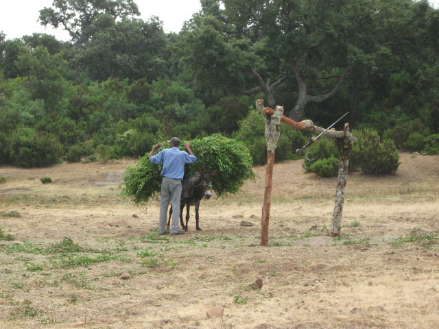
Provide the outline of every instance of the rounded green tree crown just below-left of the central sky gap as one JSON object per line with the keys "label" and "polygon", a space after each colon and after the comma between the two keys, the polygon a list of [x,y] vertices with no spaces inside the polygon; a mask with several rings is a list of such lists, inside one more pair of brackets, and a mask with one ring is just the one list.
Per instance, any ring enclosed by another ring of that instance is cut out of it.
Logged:
{"label": "rounded green tree crown just below-left of the central sky gap", "polygon": [[93,40],[84,45],[77,62],[93,80],[145,78],[147,82],[169,76],[165,32],[156,17],[150,21],[115,21],[102,14],[95,19]]}

